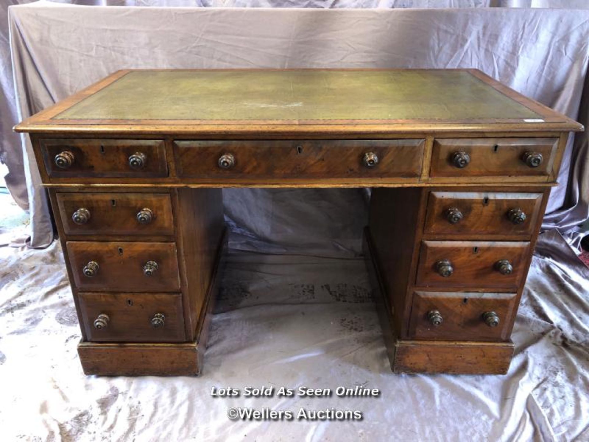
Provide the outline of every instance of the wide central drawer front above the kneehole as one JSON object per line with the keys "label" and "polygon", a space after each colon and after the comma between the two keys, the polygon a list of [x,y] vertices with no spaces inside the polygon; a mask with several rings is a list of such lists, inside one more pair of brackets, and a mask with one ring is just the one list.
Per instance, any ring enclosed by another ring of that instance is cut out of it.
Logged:
{"label": "wide central drawer front above the kneehole", "polygon": [[[419,177],[424,140],[176,141],[181,177]],[[224,161],[225,160],[225,161]]]}

